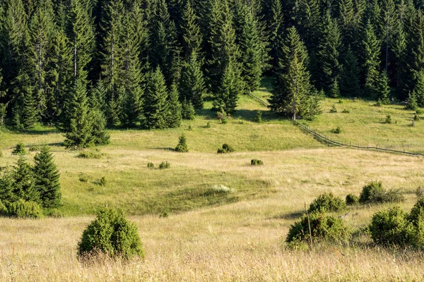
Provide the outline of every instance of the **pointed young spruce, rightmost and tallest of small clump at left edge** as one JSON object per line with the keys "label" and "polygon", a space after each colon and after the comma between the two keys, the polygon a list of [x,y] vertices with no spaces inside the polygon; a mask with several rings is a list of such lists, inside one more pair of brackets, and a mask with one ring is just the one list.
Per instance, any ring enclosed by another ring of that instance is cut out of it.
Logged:
{"label": "pointed young spruce, rightmost and tallest of small clump at left edge", "polygon": [[43,146],[34,157],[35,189],[40,193],[43,207],[58,207],[61,200],[59,170],[49,147]]}

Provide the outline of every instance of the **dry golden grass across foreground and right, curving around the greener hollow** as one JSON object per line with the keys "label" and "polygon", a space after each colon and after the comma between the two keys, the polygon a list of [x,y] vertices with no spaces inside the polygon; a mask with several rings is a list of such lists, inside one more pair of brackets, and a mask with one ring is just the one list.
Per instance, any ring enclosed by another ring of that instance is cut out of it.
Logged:
{"label": "dry golden grass across foreground and right, curving around the greener hollow", "polygon": [[[155,153],[114,154],[129,158],[115,164],[124,166],[142,155]],[[267,181],[273,192],[269,197],[171,214],[165,219],[158,215],[131,216],[131,221],[139,226],[146,250],[144,261],[102,259],[90,265],[78,262],[76,245],[93,216],[3,218],[0,280],[421,281],[424,276],[422,252],[372,247],[367,245],[367,238],[358,245],[327,245],[313,252],[283,247],[288,228],[305,202],[324,191],[339,196],[359,194],[365,183],[379,179],[387,188],[404,188],[407,200],[401,207],[410,209],[416,200],[412,192],[423,182],[424,159],[350,149],[177,156],[171,159],[175,166]],[[219,157],[225,159],[225,165],[208,161]],[[252,157],[262,159],[265,165],[247,166]],[[374,212],[387,206],[355,207],[343,219],[353,229],[364,227]]]}

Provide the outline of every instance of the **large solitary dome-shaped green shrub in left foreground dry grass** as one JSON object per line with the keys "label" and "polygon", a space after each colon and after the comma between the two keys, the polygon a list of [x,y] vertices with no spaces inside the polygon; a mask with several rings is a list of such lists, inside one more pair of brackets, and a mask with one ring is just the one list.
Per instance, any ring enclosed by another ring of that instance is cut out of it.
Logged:
{"label": "large solitary dome-shaped green shrub in left foreground dry grass", "polygon": [[102,209],[97,219],[83,232],[78,243],[78,255],[86,257],[96,252],[126,259],[134,255],[144,256],[137,227],[125,219],[122,211],[108,207]]}

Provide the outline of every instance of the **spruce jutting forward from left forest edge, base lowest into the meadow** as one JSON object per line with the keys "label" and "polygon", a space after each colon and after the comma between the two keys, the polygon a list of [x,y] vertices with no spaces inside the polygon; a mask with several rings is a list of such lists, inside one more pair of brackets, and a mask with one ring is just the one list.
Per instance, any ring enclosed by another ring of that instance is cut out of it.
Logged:
{"label": "spruce jutting forward from left forest edge, base lowest into the meadow", "polygon": [[82,79],[77,79],[73,97],[68,106],[69,129],[65,133],[66,148],[81,149],[94,145],[92,123],[90,121],[87,90]]}

